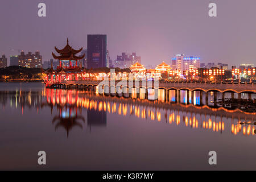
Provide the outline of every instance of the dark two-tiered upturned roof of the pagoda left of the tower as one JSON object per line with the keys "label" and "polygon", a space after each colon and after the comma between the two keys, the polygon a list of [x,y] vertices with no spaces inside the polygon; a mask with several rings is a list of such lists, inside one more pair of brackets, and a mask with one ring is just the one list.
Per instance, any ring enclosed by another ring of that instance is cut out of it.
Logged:
{"label": "dark two-tiered upturned roof of the pagoda left of the tower", "polygon": [[79,50],[73,49],[71,46],[68,44],[68,39],[67,39],[67,45],[63,49],[58,49],[56,47],[55,51],[60,54],[60,56],[56,56],[52,52],[52,56],[54,59],[59,59],[59,60],[80,60],[83,59],[85,54],[82,56],[76,56],[77,53],[82,51],[82,47]]}

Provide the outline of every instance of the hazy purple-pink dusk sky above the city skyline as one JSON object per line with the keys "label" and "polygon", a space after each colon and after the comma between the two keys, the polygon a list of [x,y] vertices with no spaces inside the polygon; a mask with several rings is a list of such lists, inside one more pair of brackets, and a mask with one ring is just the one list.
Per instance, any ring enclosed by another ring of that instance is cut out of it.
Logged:
{"label": "hazy purple-pink dusk sky above the city skyline", "polygon": [[[46,17],[38,3],[46,3]],[[217,17],[208,16],[210,2]],[[106,34],[111,59],[137,52],[142,64],[159,64],[178,53],[201,62],[256,64],[255,0],[1,0],[0,53],[39,50],[43,61],[67,37],[86,48],[87,34]]]}

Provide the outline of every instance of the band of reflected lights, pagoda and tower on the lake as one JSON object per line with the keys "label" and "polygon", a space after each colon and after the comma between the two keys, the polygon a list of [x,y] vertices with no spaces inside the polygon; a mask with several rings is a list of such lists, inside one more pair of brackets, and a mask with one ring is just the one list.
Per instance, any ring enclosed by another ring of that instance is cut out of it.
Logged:
{"label": "band of reflected lights, pagoda and tower on the lake", "polygon": [[[210,95],[210,94],[209,94]],[[202,102],[200,92],[159,89],[158,100],[154,100],[154,89],[137,93],[133,89],[130,98],[120,96],[102,96],[85,90],[42,89],[40,91],[0,92],[0,102],[8,103],[11,108],[28,109],[35,107],[37,112],[43,107],[51,108],[57,113],[52,119],[55,130],[63,127],[69,132],[73,127],[83,130],[85,123],[92,127],[106,127],[108,114],[123,117],[137,117],[145,121],[168,123],[208,132],[229,133],[232,135],[254,135],[255,127],[241,125],[242,122],[253,123],[256,113],[245,113],[239,109],[228,110],[224,107],[210,107]],[[211,96],[211,95],[210,95]],[[55,111],[56,110],[56,111]],[[85,111],[84,111],[85,110]],[[85,116],[86,115],[86,116]],[[146,123],[145,123],[146,125]]]}

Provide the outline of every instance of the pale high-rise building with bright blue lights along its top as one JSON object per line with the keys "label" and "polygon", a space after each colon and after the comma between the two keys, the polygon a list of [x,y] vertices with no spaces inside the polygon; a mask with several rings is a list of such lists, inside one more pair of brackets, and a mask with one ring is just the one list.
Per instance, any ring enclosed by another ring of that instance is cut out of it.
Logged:
{"label": "pale high-rise building with bright blue lights along its top", "polygon": [[172,58],[172,69],[177,71],[187,71],[189,69],[200,68],[200,57],[184,57],[185,55],[176,55]]}

